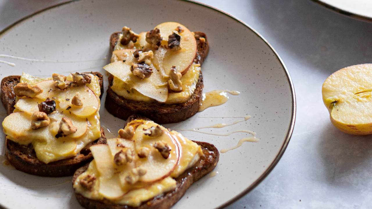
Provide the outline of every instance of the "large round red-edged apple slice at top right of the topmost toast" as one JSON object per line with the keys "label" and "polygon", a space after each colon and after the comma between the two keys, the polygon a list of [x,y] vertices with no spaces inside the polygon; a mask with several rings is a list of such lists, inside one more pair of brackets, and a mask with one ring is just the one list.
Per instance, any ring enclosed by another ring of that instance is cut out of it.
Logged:
{"label": "large round red-edged apple slice at top right of the topmost toast", "polygon": [[[168,41],[168,36],[171,35],[173,30],[176,30],[178,26],[184,30],[179,34],[181,36],[180,42],[182,48],[179,51],[167,50],[166,54],[161,50],[154,51],[154,62],[158,65],[162,65],[167,75],[173,65],[176,66],[178,72],[185,74],[194,62],[196,56],[196,40],[193,33],[185,26],[176,22],[165,22],[155,26],[155,28],[160,30],[164,42]],[[160,54],[160,56],[158,54]]]}

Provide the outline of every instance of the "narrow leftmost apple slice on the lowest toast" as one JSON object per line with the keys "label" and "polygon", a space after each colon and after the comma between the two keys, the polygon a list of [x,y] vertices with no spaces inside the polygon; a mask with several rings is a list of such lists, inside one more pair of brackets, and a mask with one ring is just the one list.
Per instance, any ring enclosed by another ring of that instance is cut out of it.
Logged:
{"label": "narrow leftmost apple slice on the lowest toast", "polygon": [[121,189],[119,174],[115,173],[110,148],[107,144],[97,144],[90,147],[99,177],[99,193],[109,199],[124,195]]}

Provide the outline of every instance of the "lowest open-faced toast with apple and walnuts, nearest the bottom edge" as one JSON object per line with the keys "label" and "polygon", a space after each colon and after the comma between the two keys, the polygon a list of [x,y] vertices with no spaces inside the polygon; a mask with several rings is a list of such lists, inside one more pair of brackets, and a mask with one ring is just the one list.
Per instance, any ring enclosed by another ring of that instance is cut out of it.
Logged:
{"label": "lowest open-faced toast with apple and walnuts, nearest the bottom edge", "polygon": [[90,147],[94,160],[73,177],[87,209],[167,209],[211,172],[219,153],[142,116],[130,116],[119,137]]}

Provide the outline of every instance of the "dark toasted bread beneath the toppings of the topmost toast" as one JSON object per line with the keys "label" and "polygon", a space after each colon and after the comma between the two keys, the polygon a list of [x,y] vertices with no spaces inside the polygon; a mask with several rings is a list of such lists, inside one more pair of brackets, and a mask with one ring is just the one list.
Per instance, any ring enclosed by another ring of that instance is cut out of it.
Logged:
{"label": "dark toasted bread beneath the toppings of the topmost toast", "polygon": [[[209,52],[209,44],[205,33],[194,32],[197,43],[197,52],[195,62],[202,64]],[[110,36],[110,51],[113,51],[116,42],[118,41],[120,32],[112,33]],[[201,43],[199,38],[205,38],[205,42]],[[164,104],[160,102],[142,102],[125,99],[112,91],[111,86],[113,76],[109,76],[109,87],[107,90],[105,107],[109,113],[120,119],[126,120],[130,115],[141,114],[151,118],[156,123],[176,123],[198,112],[200,103],[202,102],[203,91],[203,75],[200,73],[196,89],[189,100],[180,104]]]}

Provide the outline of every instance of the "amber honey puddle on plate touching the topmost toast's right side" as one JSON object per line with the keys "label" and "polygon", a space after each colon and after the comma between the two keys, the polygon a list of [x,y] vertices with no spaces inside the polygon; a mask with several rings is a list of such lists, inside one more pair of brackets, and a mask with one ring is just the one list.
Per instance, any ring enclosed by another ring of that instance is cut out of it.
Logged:
{"label": "amber honey puddle on plate touching the topmost toast's right side", "polygon": [[202,103],[199,107],[199,112],[207,109],[208,107],[214,107],[223,105],[229,100],[228,93],[231,95],[239,95],[239,91],[231,90],[214,90],[202,94]]}

